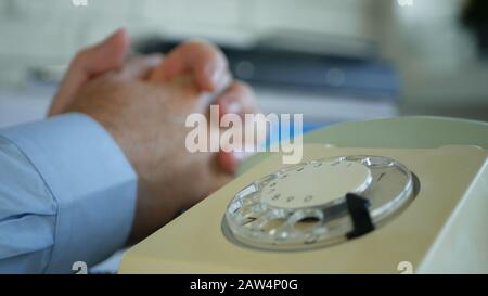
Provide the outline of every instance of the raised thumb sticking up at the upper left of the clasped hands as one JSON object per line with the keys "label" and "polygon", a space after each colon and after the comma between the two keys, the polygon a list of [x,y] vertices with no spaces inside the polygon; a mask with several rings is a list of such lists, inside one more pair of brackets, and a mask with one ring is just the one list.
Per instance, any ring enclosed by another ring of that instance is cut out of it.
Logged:
{"label": "raised thumb sticking up at the upper left of the clasped hands", "polygon": [[128,51],[129,37],[125,29],[118,29],[103,42],[78,52],[61,82],[49,115],[66,110],[79,89],[90,79],[121,67]]}

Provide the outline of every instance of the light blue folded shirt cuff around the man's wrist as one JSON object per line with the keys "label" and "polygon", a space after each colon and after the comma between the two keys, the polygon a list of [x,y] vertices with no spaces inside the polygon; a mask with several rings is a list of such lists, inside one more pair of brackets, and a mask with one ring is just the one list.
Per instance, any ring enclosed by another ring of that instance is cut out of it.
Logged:
{"label": "light blue folded shirt cuff around the man's wrist", "polygon": [[47,272],[88,266],[126,243],[136,210],[137,175],[94,119],[67,114],[0,131],[33,163],[57,204]]}

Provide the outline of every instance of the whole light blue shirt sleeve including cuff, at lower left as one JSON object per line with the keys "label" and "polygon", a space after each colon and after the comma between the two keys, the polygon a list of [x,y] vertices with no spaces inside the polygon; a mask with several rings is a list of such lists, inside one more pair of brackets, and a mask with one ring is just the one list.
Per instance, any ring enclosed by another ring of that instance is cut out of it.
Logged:
{"label": "whole light blue shirt sleeve including cuff, at lower left", "polygon": [[68,273],[126,243],[137,175],[95,120],[67,114],[0,130],[0,273]]}

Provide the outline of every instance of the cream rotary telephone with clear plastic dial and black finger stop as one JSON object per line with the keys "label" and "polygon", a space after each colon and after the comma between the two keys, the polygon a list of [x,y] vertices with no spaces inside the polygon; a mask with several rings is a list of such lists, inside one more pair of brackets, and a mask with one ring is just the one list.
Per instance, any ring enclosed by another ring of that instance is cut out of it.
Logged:
{"label": "cream rotary telephone with clear plastic dial and black finger stop", "polygon": [[488,272],[488,152],[272,155],[131,248],[127,273]]}

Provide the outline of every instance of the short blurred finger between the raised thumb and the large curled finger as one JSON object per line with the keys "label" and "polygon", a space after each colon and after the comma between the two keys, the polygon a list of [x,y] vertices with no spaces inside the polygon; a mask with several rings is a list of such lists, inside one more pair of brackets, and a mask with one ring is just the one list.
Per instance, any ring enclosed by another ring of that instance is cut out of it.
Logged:
{"label": "short blurred finger between the raised thumb and the large curled finger", "polygon": [[120,70],[119,76],[127,80],[145,79],[151,70],[163,63],[163,54],[158,53],[131,57]]}

